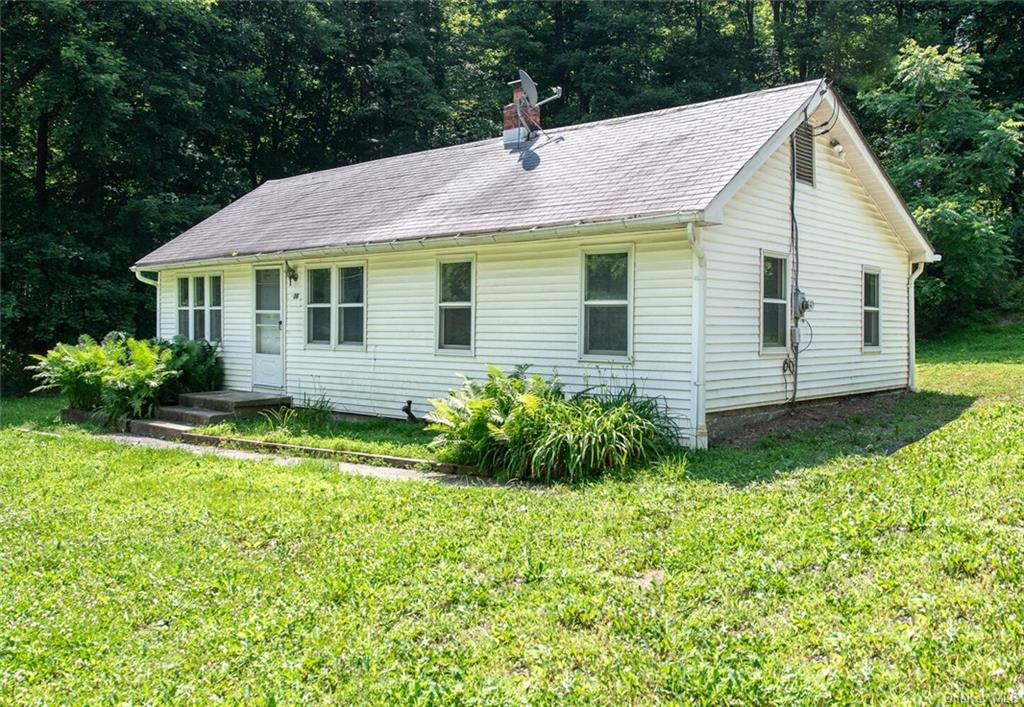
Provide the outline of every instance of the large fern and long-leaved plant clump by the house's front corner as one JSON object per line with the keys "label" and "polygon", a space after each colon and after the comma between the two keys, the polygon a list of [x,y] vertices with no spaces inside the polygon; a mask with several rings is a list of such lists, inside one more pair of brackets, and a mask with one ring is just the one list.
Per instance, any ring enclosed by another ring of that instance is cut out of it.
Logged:
{"label": "large fern and long-leaved plant clump by the house's front corner", "polygon": [[570,482],[621,469],[670,448],[677,429],[664,404],[635,386],[566,399],[561,383],[487,366],[486,380],[465,379],[430,401],[432,446],[445,458],[511,479]]}

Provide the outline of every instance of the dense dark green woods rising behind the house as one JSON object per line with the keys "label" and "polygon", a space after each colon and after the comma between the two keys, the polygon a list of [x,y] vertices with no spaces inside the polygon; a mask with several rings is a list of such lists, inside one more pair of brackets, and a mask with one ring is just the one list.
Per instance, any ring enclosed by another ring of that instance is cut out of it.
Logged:
{"label": "dense dark green woods rising behind the house", "polygon": [[549,126],[827,75],[946,254],[923,321],[1024,299],[1013,2],[8,0],[0,25],[6,348],[151,334],[139,256],[266,179],[496,135],[520,67],[564,87]]}

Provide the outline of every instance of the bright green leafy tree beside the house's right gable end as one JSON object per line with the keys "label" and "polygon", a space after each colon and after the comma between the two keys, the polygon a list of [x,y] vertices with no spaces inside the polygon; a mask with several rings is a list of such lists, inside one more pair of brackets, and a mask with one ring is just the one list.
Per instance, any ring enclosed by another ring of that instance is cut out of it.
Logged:
{"label": "bright green leafy tree beside the house's right gable end", "polygon": [[942,253],[921,281],[920,316],[934,330],[1009,302],[1012,234],[1024,164],[1024,122],[978,96],[981,59],[908,42],[892,80],[862,96],[877,145],[922,228]]}

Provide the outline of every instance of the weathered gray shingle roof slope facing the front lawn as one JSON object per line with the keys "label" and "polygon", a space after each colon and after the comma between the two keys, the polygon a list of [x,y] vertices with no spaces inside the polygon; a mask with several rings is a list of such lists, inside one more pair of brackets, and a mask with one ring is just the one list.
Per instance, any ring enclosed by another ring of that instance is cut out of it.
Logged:
{"label": "weathered gray shingle roof slope facing the front lawn", "polygon": [[819,84],[274,179],[136,264],[698,211]]}

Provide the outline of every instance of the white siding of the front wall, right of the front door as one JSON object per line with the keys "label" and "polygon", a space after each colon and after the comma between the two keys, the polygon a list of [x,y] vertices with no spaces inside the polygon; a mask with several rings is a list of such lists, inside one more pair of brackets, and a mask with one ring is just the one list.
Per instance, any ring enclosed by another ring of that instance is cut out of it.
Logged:
{"label": "white siding of the front wall, right of the front door", "polygon": [[[557,373],[569,390],[635,382],[665,399],[685,439],[692,433],[689,250],[679,233],[629,240],[636,244],[633,350],[618,362],[581,361],[580,267],[582,249],[610,242],[622,250],[622,237],[369,254],[365,346],[306,344],[305,271],[343,261],[290,260],[300,277],[287,283],[287,392],[297,401],[324,392],[339,412],[387,417],[401,417],[412,400],[422,416],[428,399],[460,385],[460,374],[481,378],[485,364],[508,370],[525,363]],[[474,265],[471,351],[437,348],[437,263],[460,259]]]}

